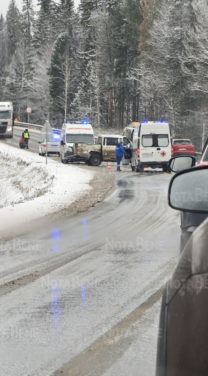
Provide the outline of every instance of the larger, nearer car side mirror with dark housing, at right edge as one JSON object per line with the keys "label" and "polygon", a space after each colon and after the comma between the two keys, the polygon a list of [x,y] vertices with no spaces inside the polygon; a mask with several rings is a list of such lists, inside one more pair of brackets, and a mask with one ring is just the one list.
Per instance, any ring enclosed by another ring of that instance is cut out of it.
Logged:
{"label": "larger, nearer car side mirror with dark housing, at right edge", "polygon": [[208,167],[195,167],[175,174],[168,189],[173,209],[208,213]]}

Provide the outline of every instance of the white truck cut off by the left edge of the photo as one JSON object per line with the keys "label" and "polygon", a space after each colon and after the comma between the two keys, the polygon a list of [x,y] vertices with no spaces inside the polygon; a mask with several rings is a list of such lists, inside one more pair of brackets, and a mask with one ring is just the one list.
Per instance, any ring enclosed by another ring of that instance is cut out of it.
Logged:
{"label": "white truck cut off by the left edge of the photo", "polygon": [[12,102],[0,102],[0,136],[13,137],[14,119]]}

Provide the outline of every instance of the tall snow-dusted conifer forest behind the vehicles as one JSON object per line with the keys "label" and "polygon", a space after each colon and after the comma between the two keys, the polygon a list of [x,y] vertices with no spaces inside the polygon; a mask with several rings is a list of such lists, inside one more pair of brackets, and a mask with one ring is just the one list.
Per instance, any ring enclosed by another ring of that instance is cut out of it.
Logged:
{"label": "tall snow-dusted conifer forest behind the vehicles", "polygon": [[164,118],[198,149],[208,133],[208,0],[11,0],[0,17],[0,100],[54,126],[123,129]]}

